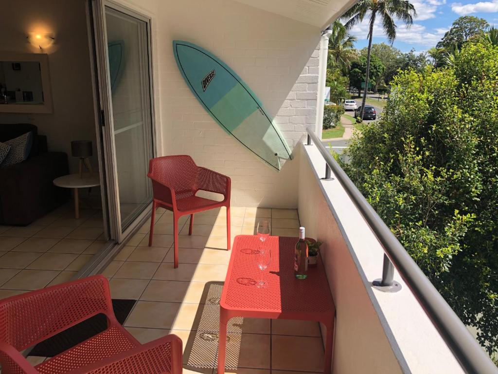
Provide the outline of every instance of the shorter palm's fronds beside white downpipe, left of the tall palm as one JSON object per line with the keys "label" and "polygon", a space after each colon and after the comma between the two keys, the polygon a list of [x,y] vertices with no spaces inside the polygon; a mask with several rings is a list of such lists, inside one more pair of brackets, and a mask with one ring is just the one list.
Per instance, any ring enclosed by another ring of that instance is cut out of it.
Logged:
{"label": "shorter palm's fronds beside white downpipe, left of the tall palm", "polygon": [[336,20],[332,25],[332,35],[329,38],[329,61],[347,75],[351,62],[358,59],[354,48],[357,37],[350,35],[344,25]]}

